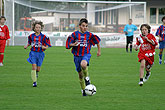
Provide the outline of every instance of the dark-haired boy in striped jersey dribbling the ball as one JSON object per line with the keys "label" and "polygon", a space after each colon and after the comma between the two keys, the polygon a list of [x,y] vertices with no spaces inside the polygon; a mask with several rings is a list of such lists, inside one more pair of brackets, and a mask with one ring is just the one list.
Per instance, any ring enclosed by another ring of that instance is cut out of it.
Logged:
{"label": "dark-haired boy in striped jersey dribbling the ball", "polygon": [[82,18],[79,22],[79,31],[75,31],[68,37],[66,41],[66,48],[72,48],[74,55],[74,63],[76,70],[79,73],[80,86],[83,96],[86,96],[85,86],[90,84],[88,77],[88,66],[91,58],[91,46],[97,44],[97,56],[101,55],[100,38],[97,35],[88,32],[88,20]]}

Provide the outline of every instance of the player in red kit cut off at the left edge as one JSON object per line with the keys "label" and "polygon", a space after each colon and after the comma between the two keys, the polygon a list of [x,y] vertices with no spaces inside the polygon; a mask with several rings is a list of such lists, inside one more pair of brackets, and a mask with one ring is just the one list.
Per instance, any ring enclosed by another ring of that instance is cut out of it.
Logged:
{"label": "player in red kit cut off at the left edge", "polygon": [[6,18],[4,16],[0,17],[0,66],[3,66],[4,51],[7,41],[7,46],[9,46],[9,29],[5,25]]}

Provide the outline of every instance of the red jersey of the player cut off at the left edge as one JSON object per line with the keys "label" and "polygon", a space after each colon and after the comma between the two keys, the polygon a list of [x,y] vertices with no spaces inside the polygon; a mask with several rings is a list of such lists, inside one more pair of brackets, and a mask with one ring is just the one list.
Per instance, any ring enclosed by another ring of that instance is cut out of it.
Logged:
{"label": "red jersey of the player cut off at the left edge", "polygon": [[9,29],[6,25],[0,26],[0,40],[10,39]]}

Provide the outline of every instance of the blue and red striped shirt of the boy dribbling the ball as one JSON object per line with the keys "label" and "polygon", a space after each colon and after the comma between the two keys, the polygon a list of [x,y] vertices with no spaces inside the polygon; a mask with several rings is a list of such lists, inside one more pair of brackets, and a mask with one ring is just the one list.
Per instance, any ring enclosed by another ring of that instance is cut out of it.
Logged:
{"label": "blue and red striped shirt of the boy dribbling the ball", "polygon": [[98,44],[100,41],[100,38],[91,32],[81,33],[75,31],[67,38],[66,48],[70,49],[70,44],[78,42],[77,46],[72,47],[72,53],[74,56],[84,56],[90,54],[91,46]]}

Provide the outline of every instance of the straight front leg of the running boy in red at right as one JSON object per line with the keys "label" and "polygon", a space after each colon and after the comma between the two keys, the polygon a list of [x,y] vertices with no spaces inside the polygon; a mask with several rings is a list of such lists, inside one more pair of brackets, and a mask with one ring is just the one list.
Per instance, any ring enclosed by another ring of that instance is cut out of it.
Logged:
{"label": "straight front leg of the running boy in red at right", "polygon": [[144,68],[145,68],[145,59],[142,59],[140,62],[140,82],[139,82],[140,86],[143,85]]}

